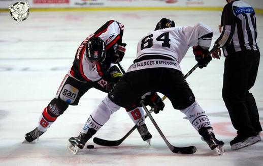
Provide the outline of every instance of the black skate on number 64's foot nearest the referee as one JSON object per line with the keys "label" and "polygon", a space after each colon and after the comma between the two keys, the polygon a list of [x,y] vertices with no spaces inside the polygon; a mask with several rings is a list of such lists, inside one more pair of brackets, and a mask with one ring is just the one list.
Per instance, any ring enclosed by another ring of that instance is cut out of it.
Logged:
{"label": "black skate on number 64's foot nearest the referee", "polygon": [[211,150],[215,150],[218,155],[224,153],[224,142],[216,139],[212,127],[202,127],[198,132],[202,135],[201,139],[208,144]]}

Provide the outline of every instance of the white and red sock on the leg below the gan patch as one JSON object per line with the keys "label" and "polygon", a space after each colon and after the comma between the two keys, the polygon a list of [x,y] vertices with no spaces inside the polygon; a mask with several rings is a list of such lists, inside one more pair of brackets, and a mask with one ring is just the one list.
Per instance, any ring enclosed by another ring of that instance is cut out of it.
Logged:
{"label": "white and red sock on the leg below the gan patch", "polygon": [[43,113],[39,117],[38,129],[42,132],[46,132],[56,119],[57,117],[51,116],[47,110],[47,107],[45,107]]}

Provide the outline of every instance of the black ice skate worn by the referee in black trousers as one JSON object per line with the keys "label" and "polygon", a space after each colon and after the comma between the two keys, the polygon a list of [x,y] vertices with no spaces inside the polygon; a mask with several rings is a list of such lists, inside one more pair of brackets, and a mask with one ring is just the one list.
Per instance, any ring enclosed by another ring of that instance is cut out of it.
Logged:
{"label": "black ice skate worn by the referee in black trousers", "polygon": [[231,149],[232,150],[238,150],[241,148],[245,148],[247,146],[253,145],[257,142],[261,141],[261,137],[259,134],[255,135],[255,136],[242,136],[242,135],[237,135],[234,140],[232,140],[230,142],[231,145]]}

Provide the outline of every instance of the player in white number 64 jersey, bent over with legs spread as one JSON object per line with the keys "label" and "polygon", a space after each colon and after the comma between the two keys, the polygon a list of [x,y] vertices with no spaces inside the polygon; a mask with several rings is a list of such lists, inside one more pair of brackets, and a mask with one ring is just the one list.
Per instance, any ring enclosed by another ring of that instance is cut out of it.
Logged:
{"label": "player in white number 64 jersey, bent over with legs spread", "polygon": [[[154,113],[157,114],[164,107],[163,102],[156,95],[156,92],[159,92],[170,99],[175,109],[179,109],[187,116],[192,126],[212,150],[216,149],[218,153],[222,153],[224,143],[216,139],[209,118],[195,101],[179,65],[188,48],[193,46],[193,53],[199,67],[206,67],[212,59],[210,55],[206,56],[212,36],[210,27],[203,23],[175,27],[174,21],[162,18],[155,30],[139,41],[134,64],[95,108],[91,114],[93,119],[89,118],[84,126],[94,128],[92,121],[104,125],[110,115],[120,107],[129,108],[140,105],[142,96],[146,105],[155,107]],[[73,146],[77,145],[74,137],[69,141]]]}

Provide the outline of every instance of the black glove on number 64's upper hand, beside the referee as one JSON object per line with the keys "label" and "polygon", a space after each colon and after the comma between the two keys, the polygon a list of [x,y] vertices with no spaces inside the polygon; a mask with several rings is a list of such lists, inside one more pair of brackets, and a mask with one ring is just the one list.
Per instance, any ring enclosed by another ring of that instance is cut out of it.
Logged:
{"label": "black glove on number 64's upper hand, beside the referee", "polygon": [[204,49],[201,46],[193,46],[193,54],[195,56],[195,60],[198,62],[198,67],[203,68],[208,65],[208,63],[212,60],[210,55],[207,55],[209,52],[208,49]]}

